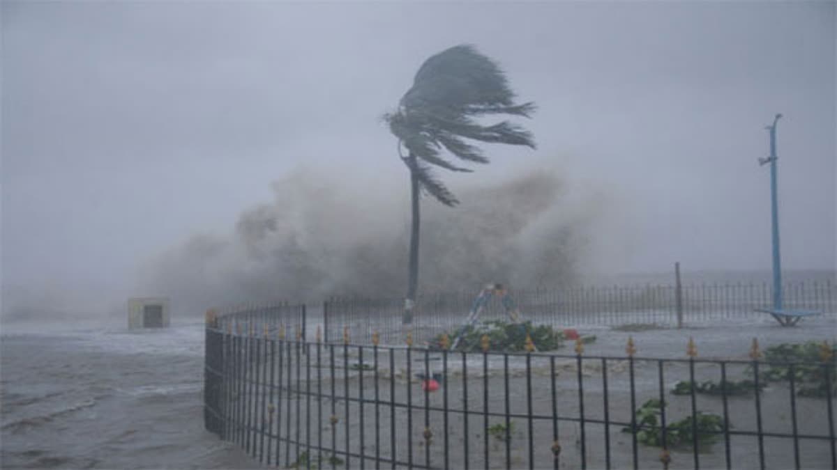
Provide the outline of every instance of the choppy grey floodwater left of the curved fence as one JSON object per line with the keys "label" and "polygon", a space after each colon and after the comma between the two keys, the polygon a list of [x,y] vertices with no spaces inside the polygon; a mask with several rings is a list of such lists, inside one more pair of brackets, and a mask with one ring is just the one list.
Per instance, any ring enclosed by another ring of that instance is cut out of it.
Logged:
{"label": "choppy grey floodwater left of the curved fence", "polygon": [[256,465],[203,430],[203,324],[3,326],[0,467]]}

